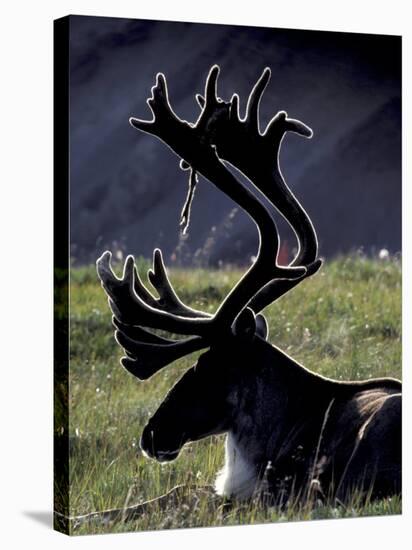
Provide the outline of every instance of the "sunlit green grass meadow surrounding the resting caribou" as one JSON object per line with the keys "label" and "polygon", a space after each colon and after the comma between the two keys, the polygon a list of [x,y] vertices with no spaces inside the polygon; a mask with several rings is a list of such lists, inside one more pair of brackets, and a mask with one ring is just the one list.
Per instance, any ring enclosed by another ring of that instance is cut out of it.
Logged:
{"label": "sunlit green grass meadow surrounding the resting caribou", "polygon": [[[207,311],[214,311],[240,275],[236,269],[171,271],[183,301]],[[119,365],[122,353],[113,339],[109,308],[94,266],[71,270],[70,292],[71,516],[136,504],[175,485],[187,486],[174,505],[154,506],[131,523],[72,527],[73,534],[401,512],[399,498],[365,504],[356,495],[347,506],[314,501],[280,510],[252,502],[228,509],[202,490],[213,484],[223,464],[222,437],[187,445],[169,464],[148,460],[138,446],[142,428],[196,355],[139,382]],[[344,257],[327,262],[265,314],[270,340],[313,371],[340,380],[401,378],[397,259]]]}

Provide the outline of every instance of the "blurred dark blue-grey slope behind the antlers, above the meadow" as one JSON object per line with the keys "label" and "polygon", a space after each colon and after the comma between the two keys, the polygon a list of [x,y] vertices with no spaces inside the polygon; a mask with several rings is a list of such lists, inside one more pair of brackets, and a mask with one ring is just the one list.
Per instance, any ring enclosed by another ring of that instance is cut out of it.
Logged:
{"label": "blurred dark blue-grey slope behind the antlers, above the meadow", "polygon": [[[264,67],[272,79],[261,127],[278,110],[314,131],[288,134],[280,165],[311,216],[320,253],[401,250],[401,39],[395,36],[72,16],[70,22],[71,256],[94,262],[150,257],[167,264],[244,265],[257,250],[253,222],[200,178],[187,235],[179,230],[187,172],[130,116],[164,72],[174,111],[194,122],[195,94],[218,63],[218,95],[241,113]],[[276,213],[274,212],[276,216]],[[278,220],[278,218],[276,218]],[[284,261],[296,242],[279,220]]]}

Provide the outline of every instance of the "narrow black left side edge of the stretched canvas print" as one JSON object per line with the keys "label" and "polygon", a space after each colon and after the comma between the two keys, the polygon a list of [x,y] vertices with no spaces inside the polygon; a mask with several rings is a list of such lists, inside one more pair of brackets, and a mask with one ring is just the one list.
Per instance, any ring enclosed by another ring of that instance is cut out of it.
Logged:
{"label": "narrow black left side edge of the stretched canvas print", "polygon": [[69,534],[69,17],[54,21],[54,528]]}

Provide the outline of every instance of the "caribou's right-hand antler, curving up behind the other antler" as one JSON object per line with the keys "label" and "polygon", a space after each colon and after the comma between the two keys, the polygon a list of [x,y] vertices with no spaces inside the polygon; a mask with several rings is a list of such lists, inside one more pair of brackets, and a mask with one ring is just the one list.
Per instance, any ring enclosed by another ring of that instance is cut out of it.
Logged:
{"label": "caribou's right-hand antler, curving up behind the other antler", "polygon": [[[311,138],[313,132],[303,122],[288,118],[285,111],[279,111],[268,123],[265,131],[263,133],[260,131],[259,107],[270,79],[269,68],[264,69],[254,85],[248,98],[244,118],[239,115],[237,94],[232,96],[230,102],[217,100],[218,74],[218,67],[213,67],[209,75],[206,99],[203,96],[197,96],[198,103],[214,120],[212,139],[217,154],[240,170],[291,225],[299,248],[290,265],[305,265],[307,267],[305,277],[313,275],[322,263],[317,259],[318,242],[315,229],[302,205],[286,185],[279,166],[280,146],[285,134],[294,132]],[[248,304],[249,307],[258,313],[299,284],[302,279],[274,279],[253,297]]]}

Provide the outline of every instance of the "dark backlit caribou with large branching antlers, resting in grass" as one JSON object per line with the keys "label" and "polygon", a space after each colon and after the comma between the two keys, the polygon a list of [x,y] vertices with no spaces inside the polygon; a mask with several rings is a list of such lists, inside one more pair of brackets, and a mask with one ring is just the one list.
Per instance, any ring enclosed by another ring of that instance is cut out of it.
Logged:
{"label": "dark backlit caribou with large branching antlers, resting in grass", "polygon": [[[372,497],[400,494],[401,382],[332,380],[268,342],[262,310],[322,264],[313,224],[279,167],[285,134],[310,138],[312,130],[280,111],[261,131],[259,107],[269,68],[254,85],[243,117],[237,94],[230,101],[218,97],[219,71],[217,65],[210,69],[204,95],[196,96],[196,122],[175,114],[166,78],[159,73],[147,100],[153,119],[133,117],[130,123],[160,139],[189,171],[184,230],[200,175],[255,222],[259,249],[254,262],[209,314],[182,302],[159,249],[148,271],[157,296],[143,284],[133,256],[127,257],[120,278],[112,270],[109,251],[97,260],[115,338],[125,352],[121,364],[129,373],[146,380],[173,361],[206,350],[149,419],[141,449],[167,462],[176,459],[187,442],[226,434],[225,464],[216,491],[230,499],[250,499],[263,490],[277,500],[313,492],[317,498],[341,500],[354,491]],[[236,170],[253,184],[254,192],[239,181]],[[289,265],[278,264],[279,234],[265,201],[296,236],[298,248]]]}

